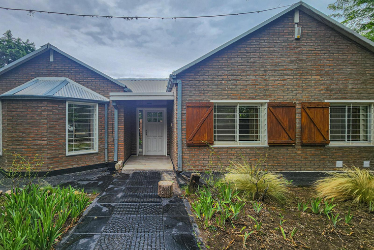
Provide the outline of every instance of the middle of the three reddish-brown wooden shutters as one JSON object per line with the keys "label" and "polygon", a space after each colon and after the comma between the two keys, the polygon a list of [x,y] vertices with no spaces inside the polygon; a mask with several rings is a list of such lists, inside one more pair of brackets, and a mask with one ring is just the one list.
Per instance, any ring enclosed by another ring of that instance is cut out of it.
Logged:
{"label": "middle of the three reddish-brown wooden shutters", "polygon": [[296,144],[296,107],[294,102],[268,103],[268,144]]}

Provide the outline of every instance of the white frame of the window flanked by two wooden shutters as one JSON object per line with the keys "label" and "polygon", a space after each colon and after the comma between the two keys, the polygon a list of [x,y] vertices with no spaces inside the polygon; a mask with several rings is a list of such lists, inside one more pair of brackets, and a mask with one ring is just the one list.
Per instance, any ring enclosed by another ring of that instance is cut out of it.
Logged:
{"label": "white frame of the window flanked by two wooden shutters", "polygon": [[[268,102],[269,100],[211,100],[211,102],[214,103],[214,105],[237,105],[237,112],[239,112],[239,106],[242,105],[260,105],[260,120],[262,121],[261,127],[260,127],[260,136],[262,137],[259,141],[245,141],[244,143],[241,143],[239,139],[235,143],[225,143],[222,141],[214,140],[213,147],[269,147],[268,145]],[[239,120],[239,117],[236,119]],[[215,121],[213,122],[213,125],[215,125]],[[236,136],[239,138],[239,123],[237,123],[236,130]],[[214,131],[214,134],[216,134],[216,131]],[[215,137],[215,136],[214,136]]]}

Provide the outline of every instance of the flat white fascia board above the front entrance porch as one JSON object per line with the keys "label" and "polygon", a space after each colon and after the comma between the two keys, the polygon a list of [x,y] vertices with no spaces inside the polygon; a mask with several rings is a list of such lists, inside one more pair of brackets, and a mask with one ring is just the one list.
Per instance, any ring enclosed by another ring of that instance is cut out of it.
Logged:
{"label": "flat white fascia board above the front entrance porch", "polygon": [[174,100],[171,92],[165,93],[110,93],[110,100]]}

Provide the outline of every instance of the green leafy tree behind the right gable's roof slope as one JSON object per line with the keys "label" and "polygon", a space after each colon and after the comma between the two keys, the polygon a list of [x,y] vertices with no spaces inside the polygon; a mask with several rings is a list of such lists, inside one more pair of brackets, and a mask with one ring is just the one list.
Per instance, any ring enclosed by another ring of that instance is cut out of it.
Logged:
{"label": "green leafy tree behind the right gable's roof slope", "polygon": [[374,0],[337,0],[328,9],[339,11],[331,16],[343,18],[342,24],[374,41]]}

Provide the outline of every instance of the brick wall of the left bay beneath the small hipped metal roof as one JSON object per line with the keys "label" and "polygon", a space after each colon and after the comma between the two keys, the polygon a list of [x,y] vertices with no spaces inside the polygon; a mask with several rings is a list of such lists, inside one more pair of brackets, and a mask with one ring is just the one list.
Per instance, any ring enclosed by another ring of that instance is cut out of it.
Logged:
{"label": "brick wall of the left bay beneath the small hipped metal roof", "polygon": [[[104,104],[99,104],[98,153],[66,156],[66,103],[61,100],[2,100],[3,148],[25,157],[44,155],[40,171],[53,171],[104,162]],[[3,153],[2,167],[13,156]],[[8,164],[6,164],[8,163]]]}

